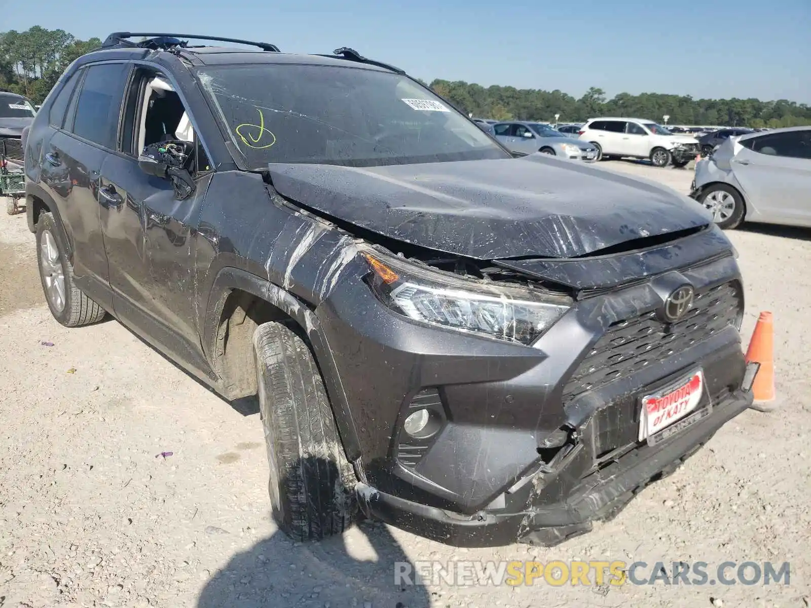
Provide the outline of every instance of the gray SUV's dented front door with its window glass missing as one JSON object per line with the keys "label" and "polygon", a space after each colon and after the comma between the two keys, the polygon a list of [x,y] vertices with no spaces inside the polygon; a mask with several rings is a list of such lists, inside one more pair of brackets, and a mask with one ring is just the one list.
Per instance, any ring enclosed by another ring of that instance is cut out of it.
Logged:
{"label": "gray SUV's dented front door with its window glass missing", "polygon": [[177,139],[186,113],[178,94],[166,90],[168,81],[156,77],[151,71],[136,73],[124,110],[124,124],[131,127],[122,133],[121,152],[108,156],[101,168],[99,208],[109,284],[122,323],[165,353],[206,370],[195,320],[193,227],[210,176],[198,177],[192,195],[180,200],[172,182],[139,169],[136,152],[143,145]]}

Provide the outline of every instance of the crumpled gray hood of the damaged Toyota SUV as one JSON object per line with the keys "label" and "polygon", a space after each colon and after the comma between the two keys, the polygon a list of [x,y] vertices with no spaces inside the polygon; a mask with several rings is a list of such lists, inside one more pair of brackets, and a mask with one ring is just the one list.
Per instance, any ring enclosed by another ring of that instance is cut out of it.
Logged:
{"label": "crumpled gray hood of the damaged Toyota SUV", "polygon": [[388,238],[475,259],[569,258],[710,223],[686,196],[545,155],[354,168],[268,165],[288,199]]}

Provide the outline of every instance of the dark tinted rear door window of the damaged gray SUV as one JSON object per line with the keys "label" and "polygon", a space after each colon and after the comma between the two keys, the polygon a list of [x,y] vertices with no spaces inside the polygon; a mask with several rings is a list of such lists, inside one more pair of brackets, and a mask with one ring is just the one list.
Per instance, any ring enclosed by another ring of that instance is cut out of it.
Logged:
{"label": "dark tinted rear door window of the damaged gray SUV", "polygon": [[73,133],[104,148],[118,148],[118,116],[127,77],[127,63],[87,68],[73,118]]}

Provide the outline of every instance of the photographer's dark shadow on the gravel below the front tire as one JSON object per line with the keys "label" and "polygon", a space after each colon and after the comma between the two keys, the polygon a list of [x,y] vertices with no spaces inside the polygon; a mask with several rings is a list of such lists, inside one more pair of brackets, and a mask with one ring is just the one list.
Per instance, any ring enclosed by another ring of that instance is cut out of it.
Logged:
{"label": "photographer's dark shadow on the gravel below the front tire", "polygon": [[430,606],[427,589],[403,584],[396,572],[414,572],[414,565],[383,524],[363,521],[321,542],[294,542],[280,530],[213,572],[197,606]]}

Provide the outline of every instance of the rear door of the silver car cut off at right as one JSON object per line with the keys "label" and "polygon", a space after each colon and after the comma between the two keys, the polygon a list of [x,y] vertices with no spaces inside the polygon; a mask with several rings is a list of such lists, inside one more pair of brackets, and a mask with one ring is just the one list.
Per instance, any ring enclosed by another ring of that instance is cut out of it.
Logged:
{"label": "rear door of the silver car cut off at right", "polygon": [[744,195],[763,219],[811,226],[811,130],[744,139],[732,158]]}

